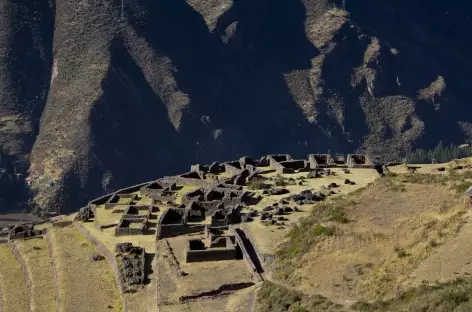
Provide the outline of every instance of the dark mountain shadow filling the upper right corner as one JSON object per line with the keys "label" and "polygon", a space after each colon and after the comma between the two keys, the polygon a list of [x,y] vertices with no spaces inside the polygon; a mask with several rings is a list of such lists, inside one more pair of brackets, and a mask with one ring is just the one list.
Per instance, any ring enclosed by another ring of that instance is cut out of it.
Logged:
{"label": "dark mountain shadow filling the upper right corner", "polygon": [[436,111],[429,102],[416,106],[416,115],[426,128],[415,145],[431,147],[439,140],[463,143],[464,135],[456,122],[472,117],[467,106],[472,95],[472,3],[366,0],[348,4],[347,9],[364,33],[399,51],[391,71],[401,81],[401,94],[416,98],[418,90],[429,86],[438,75],[444,77],[447,88],[440,110]]}

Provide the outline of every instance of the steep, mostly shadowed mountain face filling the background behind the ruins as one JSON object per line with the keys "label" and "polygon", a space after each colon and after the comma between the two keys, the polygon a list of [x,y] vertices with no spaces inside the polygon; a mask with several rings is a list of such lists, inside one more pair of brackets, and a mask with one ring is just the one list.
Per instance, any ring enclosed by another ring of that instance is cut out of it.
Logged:
{"label": "steep, mostly shadowed mountain face filling the background behind the ruins", "polygon": [[340,2],[1,0],[2,149],[68,211],[196,162],[470,138],[470,5]]}

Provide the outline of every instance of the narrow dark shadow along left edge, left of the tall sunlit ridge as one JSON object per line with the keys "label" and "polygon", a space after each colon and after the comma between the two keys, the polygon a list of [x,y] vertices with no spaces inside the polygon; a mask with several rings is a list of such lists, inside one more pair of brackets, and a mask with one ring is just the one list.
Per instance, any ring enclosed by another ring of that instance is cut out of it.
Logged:
{"label": "narrow dark shadow along left edge, left of the tall sunlit ridge", "polygon": [[[51,78],[55,6],[51,1],[11,2],[9,78],[17,100],[10,104],[21,106],[16,109],[31,119],[37,135]],[[22,139],[29,153],[35,137]]]}

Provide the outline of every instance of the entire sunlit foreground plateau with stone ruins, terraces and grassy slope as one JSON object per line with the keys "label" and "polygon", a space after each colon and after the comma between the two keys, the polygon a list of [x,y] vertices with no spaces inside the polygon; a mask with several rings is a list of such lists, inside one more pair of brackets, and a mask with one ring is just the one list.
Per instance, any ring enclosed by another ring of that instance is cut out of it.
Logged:
{"label": "entire sunlit foreground plateau with stone ruins, terraces and grassy slope", "polygon": [[0,308],[468,311],[470,185],[471,158],[193,165],[4,228]]}

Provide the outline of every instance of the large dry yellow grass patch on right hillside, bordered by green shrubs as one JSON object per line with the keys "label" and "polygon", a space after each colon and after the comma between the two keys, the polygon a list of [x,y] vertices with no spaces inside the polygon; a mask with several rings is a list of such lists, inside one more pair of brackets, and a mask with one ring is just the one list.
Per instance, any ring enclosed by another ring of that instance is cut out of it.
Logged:
{"label": "large dry yellow grass patch on right hillside, bordered by green shrubs", "polygon": [[[428,272],[427,279],[437,279],[439,270],[428,257],[454,249],[446,246],[460,227],[464,205],[439,184],[406,184],[399,190],[378,180],[346,208],[350,222],[336,224],[334,236],[320,239],[296,274],[299,290],[347,303],[394,296],[398,285],[412,284],[410,274],[423,263],[417,275]],[[468,246],[469,237],[461,246]],[[455,267],[468,261],[462,258]]]}

